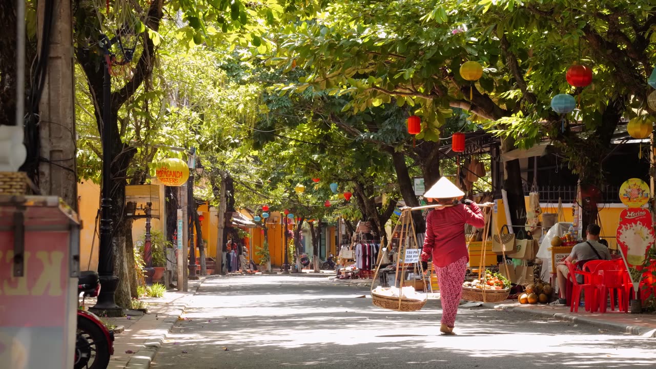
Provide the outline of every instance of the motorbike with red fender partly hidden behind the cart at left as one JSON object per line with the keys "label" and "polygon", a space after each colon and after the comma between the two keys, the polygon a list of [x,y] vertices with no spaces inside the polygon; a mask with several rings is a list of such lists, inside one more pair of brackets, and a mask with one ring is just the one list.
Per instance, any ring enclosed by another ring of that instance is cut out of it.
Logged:
{"label": "motorbike with red fender partly hidden behind the cart at left", "polygon": [[100,321],[98,316],[84,310],[84,297],[97,297],[100,280],[94,271],[80,272],[77,293],[82,294],[82,304],[77,309],[77,334],[75,336],[74,369],[106,369],[114,353],[114,332]]}

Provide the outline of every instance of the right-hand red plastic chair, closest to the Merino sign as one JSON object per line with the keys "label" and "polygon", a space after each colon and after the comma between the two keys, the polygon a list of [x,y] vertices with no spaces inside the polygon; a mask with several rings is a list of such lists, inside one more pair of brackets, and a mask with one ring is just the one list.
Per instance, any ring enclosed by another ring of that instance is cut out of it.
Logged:
{"label": "right-hand red plastic chair, closest to the Merino sign", "polygon": [[[610,293],[611,310],[615,311],[615,292],[617,292],[617,309],[628,312],[629,293],[632,288],[627,283],[628,272],[623,261],[611,260],[597,267],[593,284],[598,292],[598,305],[601,313],[606,312],[607,294]],[[596,309],[594,309],[596,311]]]}

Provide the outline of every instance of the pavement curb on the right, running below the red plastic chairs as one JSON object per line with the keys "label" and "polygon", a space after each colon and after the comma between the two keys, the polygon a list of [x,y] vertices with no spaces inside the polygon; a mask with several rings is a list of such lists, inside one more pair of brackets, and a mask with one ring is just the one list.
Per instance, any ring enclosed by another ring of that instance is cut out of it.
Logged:
{"label": "pavement curb on the right, running below the red plastic chairs", "polygon": [[586,316],[581,316],[571,313],[553,313],[551,311],[534,310],[526,307],[519,307],[519,306],[512,306],[512,305],[499,305],[496,303],[483,303],[483,307],[486,307],[487,309],[495,309],[499,311],[508,311],[509,313],[522,313],[522,314],[545,316],[547,318],[554,318],[554,319],[563,320],[565,322],[571,322],[575,324],[588,324],[590,326],[595,326],[597,328],[602,328],[605,330],[613,330],[615,332],[628,333],[634,336],[640,336],[645,338],[656,337],[656,330],[650,329],[648,327],[632,326],[630,324],[625,324],[625,323],[607,322],[605,320],[600,320],[597,318],[588,318]]}

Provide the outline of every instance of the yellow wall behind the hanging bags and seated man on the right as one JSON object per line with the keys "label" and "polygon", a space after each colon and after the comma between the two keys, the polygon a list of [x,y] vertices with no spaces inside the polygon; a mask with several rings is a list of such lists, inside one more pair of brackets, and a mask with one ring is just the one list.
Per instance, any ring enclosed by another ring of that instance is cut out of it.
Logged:
{"label": "yellow wall behind the hanging bags and seated man on the right", "polygon": [[[528,207],[529,197],[524,197],[525,204]],[[508,224],[506,221],[505,207],[502,200],[495,200],[497,204],[497,211],[493,213],[493,234],[499,234],[499,230],[503,225]],[[556,204],[541,204],[543,213],[557,213],[558,212],[558,203]],[[605,238],[608,241],[608,246],[611,250],[617,249],[617,242],[615,241],[615,234],[617,232],[617,225],[619,223],[619,214],[625,209],[623,204],[606,204],[603,209],[599,211],[599,217],[601,219],[602,231],[600,237]],[[573,221],[572,215],[572,204],[563,204],[563,213],[565,215],[565,222]],[[542,216],[540,217],[542,221]],[[561,220],[562,221],[562,220]],[[516,229],[517,230],[517,229]],[[515,230],[515,231],[516,231]]]}

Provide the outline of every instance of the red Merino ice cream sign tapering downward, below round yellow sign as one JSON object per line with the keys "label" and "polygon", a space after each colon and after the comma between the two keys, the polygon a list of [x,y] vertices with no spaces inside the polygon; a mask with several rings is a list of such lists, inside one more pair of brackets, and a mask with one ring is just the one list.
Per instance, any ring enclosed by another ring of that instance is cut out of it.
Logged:
{"label": "red Merino ice cream sign tapering downward, below round yellow sign", "polygon": [[624,209],[619,215],[617,226],[617,245],[626,261],[626,266],[633,269],[630,273],[632,282],[640,282],[638,271],[642,269],[649,248],[654,246],[656,234],[651,222],[651,213],[640,207]]}

